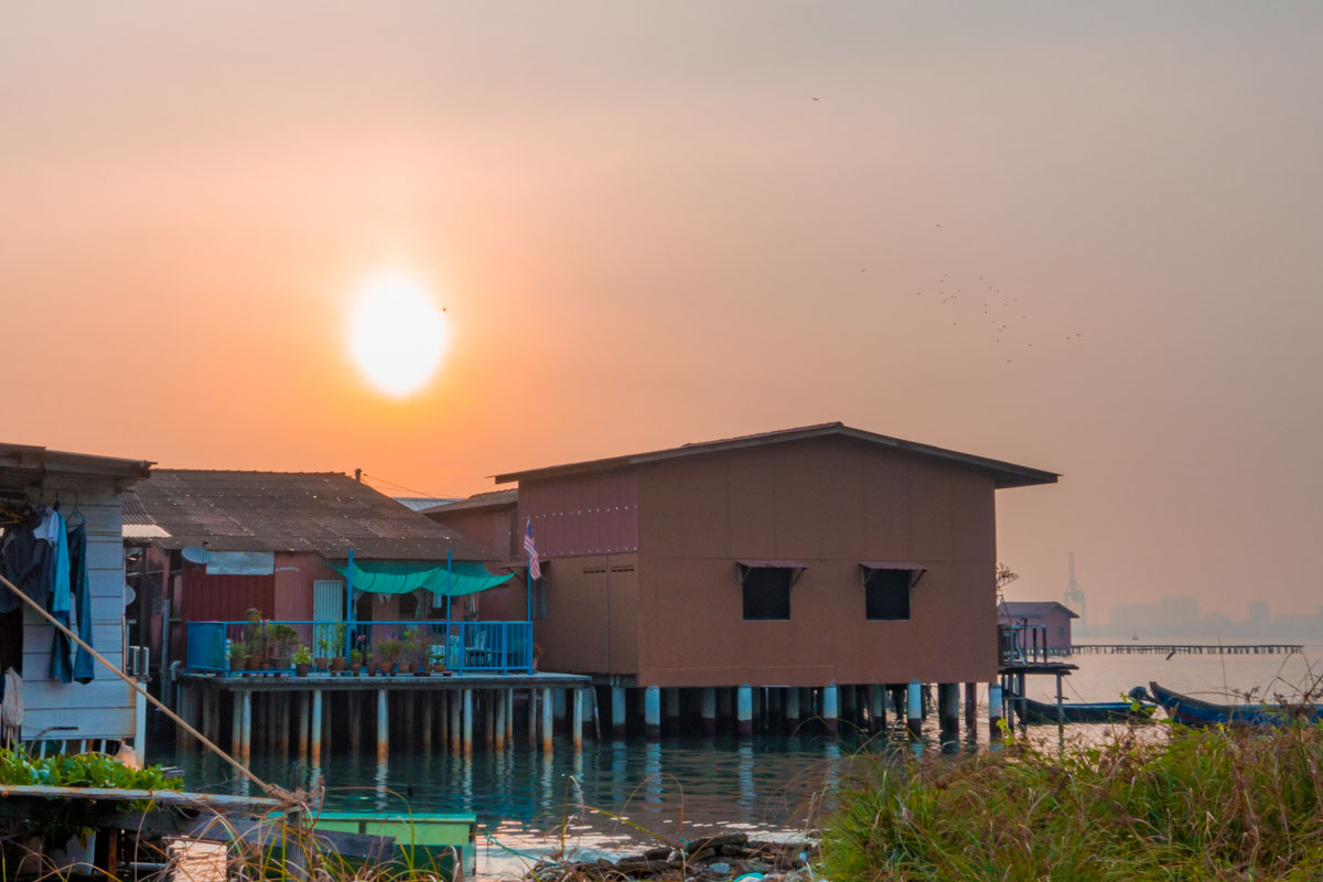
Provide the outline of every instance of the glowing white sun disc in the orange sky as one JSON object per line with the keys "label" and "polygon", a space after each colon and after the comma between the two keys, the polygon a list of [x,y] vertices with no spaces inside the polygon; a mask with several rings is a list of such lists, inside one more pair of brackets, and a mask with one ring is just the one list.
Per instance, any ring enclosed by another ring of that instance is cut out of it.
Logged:
{"label": "glowing white sun disc in the orange sky", "polygon": [[378,275],[355,296],[349,354],[380,391],[407,398],[427,385],[448,335],[431,294],[405,275]]}

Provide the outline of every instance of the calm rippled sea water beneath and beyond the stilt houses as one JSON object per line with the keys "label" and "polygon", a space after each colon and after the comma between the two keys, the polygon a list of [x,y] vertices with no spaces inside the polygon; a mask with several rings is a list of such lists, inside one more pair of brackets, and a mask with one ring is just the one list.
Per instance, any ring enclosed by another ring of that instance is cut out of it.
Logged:
{"label": "calm rippled sea water beneath and beyond the stilt houses", "polygon": [[[1323,669],[1323,647],[1297,656],[1076,656],[1080,670],[1065,681],[1072,701],[1110,701],[1135,685],[1164,686],[1218,700],[1257,689],[1257,694],[1298,693]],[[1031,696],[1050,700],[1054,678],[1031,677]],[[980,702],[987,698],[986,690]],[[986,715],[986,707],[980,707]],[[935,721],[927,726],[935,735]],[[1099,737],[1099,731],[1080,733]],[[987,743],[987,726],[960,750]],[[1056,730],[1039,730],[1056,739]],[[472,812],[482,824],[479,870],[491,878],[517,874],[533,857],[558,848],[562,837],[581,854],[619,854],[656,844],[651,833],[692,838],[721,829],[781,837],[811,829],[816,811],[830,807],[832,785],[848,774],[859,738],[824,735],[737,739],[585,742],[574,755],[557,739],[550,758],[525,744],[504,754],[475,747],[471,762],[446,755],[397,755],[386,766],[335,755],[320,774],[327,808],[349,811]],[[929,742],[927,750],[937,750]],[[152,762],[179,764],[192,788],[230,792],[228,768],[198,754],[153,754]],[[263,779],[307,787],[312,770],[254,759]]]}

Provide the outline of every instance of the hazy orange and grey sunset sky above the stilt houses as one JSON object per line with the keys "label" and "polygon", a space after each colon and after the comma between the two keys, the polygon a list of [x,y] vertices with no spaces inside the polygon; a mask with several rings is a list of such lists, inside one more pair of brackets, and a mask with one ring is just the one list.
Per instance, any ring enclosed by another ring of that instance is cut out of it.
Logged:
{"label": "hazy orange and grey sunset sky above the stilt houses", "polygon": [[[843,421],[1011,599],[1315,611],[1323,4],[8,3],[0,438],[491,475]],[[431,382],[349,357],[366,280]],[[386,484],[389,481],[390,484]]]}

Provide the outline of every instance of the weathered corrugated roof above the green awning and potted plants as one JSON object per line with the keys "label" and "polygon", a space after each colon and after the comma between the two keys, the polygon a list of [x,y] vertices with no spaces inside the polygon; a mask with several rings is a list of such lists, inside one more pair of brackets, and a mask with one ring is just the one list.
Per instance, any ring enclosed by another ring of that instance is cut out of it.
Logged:
{"label": "weathered corrugated roof above the green awning and potted plants", "polygon": [[[454,530],[339,472],[156,469],[136,500],[169,550],[315,551],[325,558],[491,561]],[[135,513],[134,516],[139,516]]]}

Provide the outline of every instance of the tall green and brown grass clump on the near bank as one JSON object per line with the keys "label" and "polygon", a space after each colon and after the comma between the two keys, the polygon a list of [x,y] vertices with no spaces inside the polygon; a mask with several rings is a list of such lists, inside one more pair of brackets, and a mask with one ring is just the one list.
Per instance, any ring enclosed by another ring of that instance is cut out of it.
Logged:
{"label": "tall green and brown grass clump on the near bank", "polygon": [[878,760],[827,819],[823,869],[837,882],[1323,877],[1323,727],[1174,727],[1159,742],[1121,731],[1061,752]]}

